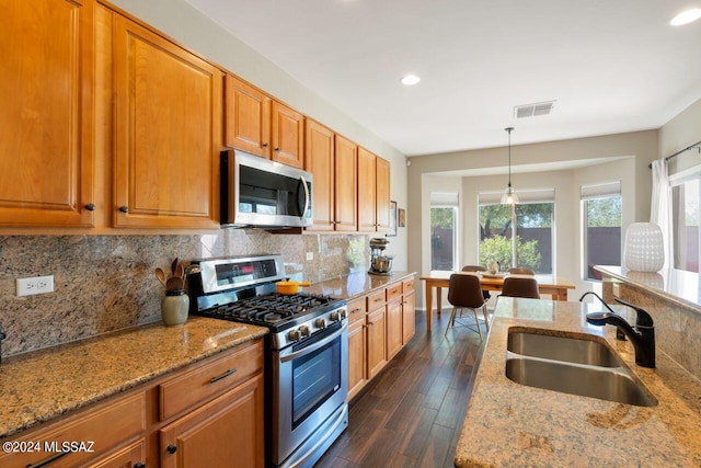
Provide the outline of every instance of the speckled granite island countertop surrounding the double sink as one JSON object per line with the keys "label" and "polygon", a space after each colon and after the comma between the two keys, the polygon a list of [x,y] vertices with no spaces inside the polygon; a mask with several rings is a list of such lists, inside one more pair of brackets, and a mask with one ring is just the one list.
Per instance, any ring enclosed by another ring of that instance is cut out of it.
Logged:
{"label": "speckled granite island countertop surrounding the double sink", "polygon": [[[499,298],[456,450],[457,467],[701,466],[701,381],[659,349],[657,368],[636,366],[630,341],[616,341],[614,327],[586,322],[593,310],[600,308]],[[658,404],[629,406],[509,380],[510,327],[602,336]]]}

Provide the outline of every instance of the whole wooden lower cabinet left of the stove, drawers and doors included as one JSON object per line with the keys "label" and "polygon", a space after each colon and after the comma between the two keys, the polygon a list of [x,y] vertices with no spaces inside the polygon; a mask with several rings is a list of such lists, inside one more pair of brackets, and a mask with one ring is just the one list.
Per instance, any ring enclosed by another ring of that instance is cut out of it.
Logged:
{"label": "whole wooden lower cabinet left of the stove, drawers and doors included", "polygon": [[[257,339],[126,395],[2,438],[0,443],[16,442],[24,447],[41,443],[41,450],[0,453],[0,467],[262,467],[262,359],[263,339]],[[235,370],[222,377],[221,366]],[[197,400],[180,392],[184,380]],[[211,389],[203,392],[202,387]],[[175,401],[164,404],[168,399]],[[81,442],[87,449],[60,454],[64,443]]]}

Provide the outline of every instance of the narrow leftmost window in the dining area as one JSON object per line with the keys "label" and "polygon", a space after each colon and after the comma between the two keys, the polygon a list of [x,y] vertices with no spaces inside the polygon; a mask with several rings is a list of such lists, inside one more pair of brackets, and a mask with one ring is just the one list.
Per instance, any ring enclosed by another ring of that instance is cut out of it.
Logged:
{"label": "narrow leftmost window in the dining area", "polygon": [[453,271],[458,263],[458,194],[430,194],[430,270]]}

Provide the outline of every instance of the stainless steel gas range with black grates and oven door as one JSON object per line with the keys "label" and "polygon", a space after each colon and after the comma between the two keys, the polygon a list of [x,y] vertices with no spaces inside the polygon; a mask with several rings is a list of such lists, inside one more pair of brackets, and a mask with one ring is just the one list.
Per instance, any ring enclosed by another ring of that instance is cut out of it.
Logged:
{"label": "stainless steel gas range with black grates and oven door", "polygon": [[343,299],[276,293],[280,255],[210,259],[187,277],[191,312],[267,327],[269,464],[311,467],[348,425],[348,319]]}

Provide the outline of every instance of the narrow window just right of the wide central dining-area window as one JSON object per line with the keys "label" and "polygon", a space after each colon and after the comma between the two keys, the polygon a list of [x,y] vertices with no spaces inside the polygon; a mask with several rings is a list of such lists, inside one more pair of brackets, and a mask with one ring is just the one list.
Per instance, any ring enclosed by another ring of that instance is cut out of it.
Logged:
{"label": "narrow window just right of the wide central dining-area window", "polygon": [[585,279],[601,279],[594,265],[621,264],[621,183],[583,185],[582,226]]}

